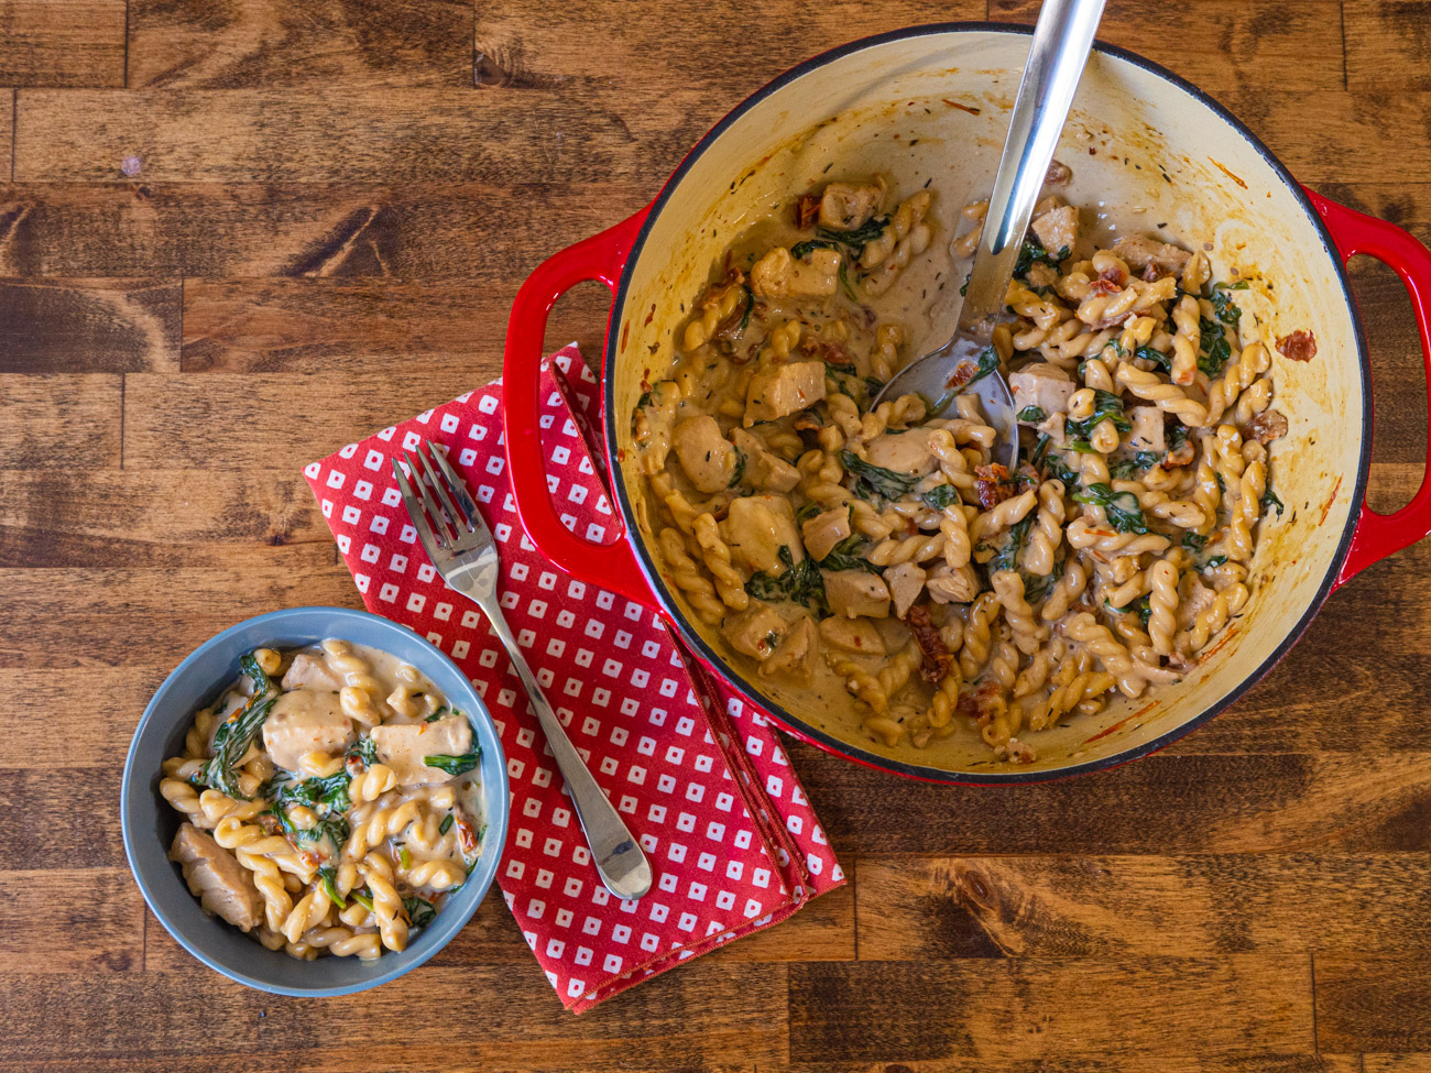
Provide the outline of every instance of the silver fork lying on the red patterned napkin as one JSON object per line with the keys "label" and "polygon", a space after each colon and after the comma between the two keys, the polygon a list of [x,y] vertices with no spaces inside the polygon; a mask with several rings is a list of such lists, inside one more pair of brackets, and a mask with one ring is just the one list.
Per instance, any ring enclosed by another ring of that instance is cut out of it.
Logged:
{"label": "silver fork lying on the red patterned napkin", "polygon": [[[428,446],[432,459],[422,446]],[[581,830],[591,846],[591,856],[597,863],[597,873],[601,881],[618,898],[638,898],[651,890],[651,863],[645,858],[631,831],[622,823],[620,814],[601,793],[597,780],[591,777],[577,747],[571,744],[567,731],[562,728],[557,712],[552,711],[541,685],[522,658],[512,637],[502,608],[497,598],[497,541],[492,531],[487,528],[477,504],[467,491],[462,478],[456,475],[448,464],[442,451],[436,445],[424,441],[418,445],[416,459],[406,451],[402,461],[412,474],[412,484],[392,458],[392,472],[398,478],[398,491],[402,492],[402,502],[412,515],[412,524],[422,538],[428,558],[436,567],[438,574],[448,588],[461,592],[471,599],[487,615],[492,629],[507,647],[507,654],[512,658],[517,675],[527,687],[532,707],[537,710],[537,720],[542,733],[551,744],[552,755],[561,777],[567,780],[567,790],[571,791],[571,803],[575,807]],[[431,485],[432,492],[428,491]],[[416,492],[414,492],[416,486]],[[435,496],[434,496],[435,492]],[[421,502],[419,502],[421,499]]]}

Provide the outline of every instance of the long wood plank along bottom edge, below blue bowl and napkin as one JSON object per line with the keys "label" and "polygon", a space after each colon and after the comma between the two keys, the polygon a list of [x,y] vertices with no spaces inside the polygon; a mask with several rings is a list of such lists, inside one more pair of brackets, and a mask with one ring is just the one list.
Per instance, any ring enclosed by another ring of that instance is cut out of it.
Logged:
{"label": "long wood plank along bottom edge, below blue bowl and napkin", "polygon": [[[156,939],[153,929],[149,939]],[[338,1069],[335,1062],[352,1069],[353,1053],[362,1053],[372,1069],[388,1069],[385,1056],[414,1063],[399,1069],[458,1063],[467,1069],[571,1069],[565,1042],[572,1017],[541,973],[514,973],[507,966],[429,967],[424,979],[424,993],[442,996],[441,1040],[428,1043],[412,1036],[414,996],[404,987],[326,999],[319,1007],[312,1000],[253,991],[195,966],[126,977],[123,1003],[110,999],[113,980],[82,974],[0,974],[0,993],[9,1000],[13,1043],[7,1057],[14,1062],[147,1053],[192,1066],[202,1056],[233,1054],[253,1063],[245,1069]],[[581,1067],[701,1067],[740,1056],[778,1069],[786,1033],[770,1010],[784,996],[784,966],[697,959],[582,1016]],[[690,1013],[717,1003],[720,1024],[693,1032]],[[136,1016],[139,1010],[145,1013]],[[322,1017],[315,1016],[319,1010]],[[336,1053],[332,1024],[343,1026],[346,1056]],[[414,1054],[402,1059],[399,1050]]]}

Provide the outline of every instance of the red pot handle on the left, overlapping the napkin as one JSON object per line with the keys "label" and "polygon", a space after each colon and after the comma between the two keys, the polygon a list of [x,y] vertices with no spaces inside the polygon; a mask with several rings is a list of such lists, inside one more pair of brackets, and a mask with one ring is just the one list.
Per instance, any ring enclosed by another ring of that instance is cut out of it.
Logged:
{"label": "red pot handle on the left, overlapping the napkin", "polygon": [[[611,544],[587,541],[568,529],[551,499],[545,454],[539,435],[542,336],[547,316],[564,292],[595,279],[615,290],[631,245],[650,209],[641,209],[600,235],[582,239],[537,266],[527,278],[507,325],[502,361],[502,416],[507,428],[507,465],[512,478],[517,516],[532,544],[572,577],[620,592],[640,604],[653,604],[651,587],[622,532]],[[607,332],[611,325],[607,325]],[[522,435],[511,435],[521,429]],[[592,464],[601,465],[600,458]],[[617,525],[625,528],[620,512]]]}

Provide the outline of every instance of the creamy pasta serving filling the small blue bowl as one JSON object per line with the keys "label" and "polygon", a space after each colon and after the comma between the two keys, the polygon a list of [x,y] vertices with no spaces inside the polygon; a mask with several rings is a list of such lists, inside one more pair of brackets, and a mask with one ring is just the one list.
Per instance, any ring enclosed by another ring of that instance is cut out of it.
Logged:
{"label": "creamy pasta serving filling the small blue bowl", "polygon": [[479,750],[418,668],[323,641],[259,648],[202,708],[159,793],[207,913],[272,950],[402,950],[482,851]]}

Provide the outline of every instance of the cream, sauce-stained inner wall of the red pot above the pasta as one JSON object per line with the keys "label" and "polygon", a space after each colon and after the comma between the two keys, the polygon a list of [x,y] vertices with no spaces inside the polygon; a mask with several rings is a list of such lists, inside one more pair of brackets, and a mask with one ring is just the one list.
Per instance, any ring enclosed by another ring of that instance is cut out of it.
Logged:
{"label": "cream, sauce-stained inner wall of the red pot above the pasta", "polygon": [[[1182,684],[1030,735],[1039,760],[1022,767],[992,760],[972,731],[926,750],[887,748],[843,698],[834,702],[757,678],[717,631],[688,614],[664,579],[651,539],[630,421],[643,381],[660,379],[670,365],[683,310],[734,236],[824,177],[883,172],[902,195],[929,182],[936,192],[933,249],[947,249],[963,229],[959,209],[987,196],[1027,47],[1027,34],[1013,30],[916,27],[811,60],[757,93],[657,200],[627,266],[608,339],[608,446],[611,456],[624,459],[618,495],[637,519],[648,574],[667,605],[681,612],[687,635],[798,731],[934,778],[1046,778],[1146,751],[1229,702],[1285,652],[1325,597],[1365,465],[1359,329],[1341,265],[1298,187],[1196,90],[1138,57],[1100,47],[1056,155],[1073,172],[1065,195],[1089,210],[1085,226],[1096,217],[1109,239],[1152,233],[1205,249],[1213,279],[1235,273],[1255,280],[1262,298],[1239,298],[1259,303],[1272,338],[1305,328],[1318,340],[1309,363],[1274,355],[1275,405],[1291,432],[1272,445],[1269,472],[1286,514],[1261,526],[1248,611]],[[934,256],[903,282],[930,296],[923,338],[910,326],[910,353],[952,333],[964,269]]]}

